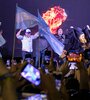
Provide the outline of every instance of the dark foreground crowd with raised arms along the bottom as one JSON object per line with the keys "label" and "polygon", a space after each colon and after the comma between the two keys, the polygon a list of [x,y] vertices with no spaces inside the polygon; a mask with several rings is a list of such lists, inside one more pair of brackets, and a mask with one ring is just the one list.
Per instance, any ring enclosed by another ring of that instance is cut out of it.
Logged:
{"label": "dark foreground crowd with raised arms along the bottom", "polygon": [[[43,93],[47,95],[47,100],[89,100],[90,64],[87,64],[88,62],[89,60],[86,61],[83,58],[82,61],[75,63],[77,67],[75,69],[70,68],[68,60],[63,64],[54,64],[53,58],[51,58],[50,62],[45,65],[48,73],[43,67],[38,69],[41,81],[38,86],[35,86],[20,74],[27,61],[16,63],[13,60],[8,69],[0,59],[1,100],[27,100],[23,93]],[[33,61],[30,63],[34,66]]]}

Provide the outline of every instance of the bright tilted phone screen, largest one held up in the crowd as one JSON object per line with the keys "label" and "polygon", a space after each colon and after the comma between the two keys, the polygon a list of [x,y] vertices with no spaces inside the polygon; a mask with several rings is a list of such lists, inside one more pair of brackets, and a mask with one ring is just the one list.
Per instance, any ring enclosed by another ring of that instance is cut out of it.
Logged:
{"label": "bright tilted phone screen, largest one held up in the crowd", "polygon": [[27,64],[21,72],[21,76],[27,79],[29,82],[39,85],[40,84],[40,72],[31,64]]}

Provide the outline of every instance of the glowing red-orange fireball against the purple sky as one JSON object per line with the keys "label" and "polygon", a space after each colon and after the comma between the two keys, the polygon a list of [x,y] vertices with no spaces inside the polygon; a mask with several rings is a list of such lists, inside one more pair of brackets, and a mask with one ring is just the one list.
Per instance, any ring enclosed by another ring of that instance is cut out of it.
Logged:
{"label": "glowing red-orange fireball against the purple sky", "polygon": [[55,6],[43,13],[42,17],[50,27],[51,33],[56,34],[57,29],[67,19],[67,14],[65,9]]}

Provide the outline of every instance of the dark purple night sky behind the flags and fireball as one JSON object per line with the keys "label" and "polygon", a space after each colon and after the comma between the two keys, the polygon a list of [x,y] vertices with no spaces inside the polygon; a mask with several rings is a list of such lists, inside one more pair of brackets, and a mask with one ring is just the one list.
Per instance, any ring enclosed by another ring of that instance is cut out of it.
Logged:
{"label": "dark purple night sky behind the flags and fireball", "polygon": [[[90,0],[0,0],[0,21],[4,31],[3,36],[7,41],[3,49],[5,55],[12,55],[16,3],[36,16],[37,9],[42,14],[51,7],[61,6],[68,15],[67,20],[61,26],[63,29],[71,25],[81,28],[87,24],[90,25]],[[19,52],[20,47],[15,47],[15,56],[20,56]]]}

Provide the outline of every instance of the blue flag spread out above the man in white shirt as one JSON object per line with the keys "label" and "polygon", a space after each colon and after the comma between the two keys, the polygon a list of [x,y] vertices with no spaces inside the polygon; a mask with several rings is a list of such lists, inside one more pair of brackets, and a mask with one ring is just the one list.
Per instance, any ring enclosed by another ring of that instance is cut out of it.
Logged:
{"label": "blue flag spread out above the man in white shirt", "polygon": [[37,25],[37,17],[26,10],[16,7],[16,29],[32,28]]}

